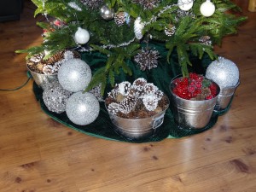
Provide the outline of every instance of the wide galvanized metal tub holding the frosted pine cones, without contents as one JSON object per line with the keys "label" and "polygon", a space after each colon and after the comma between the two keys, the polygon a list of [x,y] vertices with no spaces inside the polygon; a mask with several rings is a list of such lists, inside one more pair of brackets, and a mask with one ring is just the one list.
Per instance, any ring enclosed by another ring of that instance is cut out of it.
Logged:
{"label": "wide galvanized metal tub holding the frosted pine cones, without contents", "polygon": [[[166,97],[167,98],[167,97]],[[168,100],[168,99],[167,99]],[[169,100],[166,108],[160,113],[145,119],[125,119],[108,111],[109,117],[114,125],[115,131],[131,140],[153,137],[157,128],[163,124],[166,109],[169,108]]]}

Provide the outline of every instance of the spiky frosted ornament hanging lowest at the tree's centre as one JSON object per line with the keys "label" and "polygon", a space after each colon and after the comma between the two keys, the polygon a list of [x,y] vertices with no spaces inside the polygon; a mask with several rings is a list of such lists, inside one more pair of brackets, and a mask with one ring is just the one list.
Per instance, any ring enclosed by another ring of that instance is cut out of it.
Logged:
{"label": "spiky frosted ornament hanging lowest at the tree's centre", "polygon": [[140,53],[135,55],[134,61],[137,62],[142,71],[145,71],[157,67],[159,58],[160,53],[158,50],[143,49]]}

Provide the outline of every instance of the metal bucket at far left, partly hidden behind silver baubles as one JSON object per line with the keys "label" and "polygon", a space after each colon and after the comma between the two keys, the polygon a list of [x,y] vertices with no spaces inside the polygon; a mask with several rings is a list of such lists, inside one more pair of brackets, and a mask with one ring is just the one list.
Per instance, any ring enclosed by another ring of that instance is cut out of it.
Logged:
{"label": "metal bucket at far left, partly hidden behind silver baubles", "polygon": [[39,87],[41,87],[43,90],[46,86],[46,84],[52,83],[53,81],[58,79],[58,74],[41,74],[41,73],[35,73],[32,70],[30,70],[28,67],[27,69],[32,74],[32,78],[34,79],[35,83],[38,84]]}

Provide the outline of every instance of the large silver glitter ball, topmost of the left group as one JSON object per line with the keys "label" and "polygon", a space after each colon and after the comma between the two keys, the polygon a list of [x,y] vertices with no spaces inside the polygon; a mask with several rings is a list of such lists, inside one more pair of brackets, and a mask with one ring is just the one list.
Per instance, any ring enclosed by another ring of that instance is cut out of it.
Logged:
{"label": "large silver glitter ball, topmost of the left group", "polygon": [[71,59],[61,65],[58,79],[63,89],[78,92],[84,90],[90,83],[91,70],[86,62]]}

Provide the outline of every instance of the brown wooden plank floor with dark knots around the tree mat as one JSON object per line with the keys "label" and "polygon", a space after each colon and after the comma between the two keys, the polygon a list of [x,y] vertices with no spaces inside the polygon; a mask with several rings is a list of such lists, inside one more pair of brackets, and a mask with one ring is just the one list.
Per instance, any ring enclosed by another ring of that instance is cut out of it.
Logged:
{"label": "brown wooden plank floor with dark knots around the tree mat", "polygon": [[[50,119],[32,92],[0,91],[0,192],[255,192],[256,13],[239,34],[224,38],[220,55],[236,62],[241,85],[230,111],[211,130],[159,143],[119,143],[90,137]],[[26,81],[26,55],[40,44],[34,7],[0,23],[0,89]]]}

